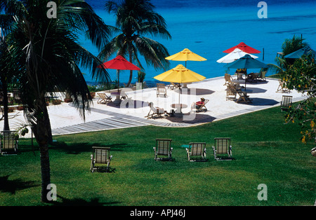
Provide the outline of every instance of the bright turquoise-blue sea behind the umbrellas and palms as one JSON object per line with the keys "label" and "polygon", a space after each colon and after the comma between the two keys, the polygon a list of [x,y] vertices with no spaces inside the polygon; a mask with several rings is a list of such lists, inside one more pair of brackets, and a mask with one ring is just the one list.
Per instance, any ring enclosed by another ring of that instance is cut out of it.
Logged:
{"label": "bright turquoise-blue sea behind the umbrellas and palms", "polygon": [[[103,6],[105,1],[87,0],[107,25],[114,25],[115,19]],[[260,50],[255,54],[265,64],[275,63],[277,52],[281,51],[285,39],[294,34],[303,36],[314,50],[316,49],[316,1],[265,1],[268,6],[268,18],[258,18],[259,1],[187,1],[187,0],[152,0],[155,11],[166,20],[167,29],[172,39],[152,38],[162,43],[173,55],[184,48],[201,55],[204,62],[187,61],[187,69],[206,78],[223,76],[227,68],[216,60],[227,55],[223,50],[236,46],[240,42]],[[94,55],[98,50],[88,41],[82,41],[86,49]],[[263,53],[264,50],[264,53]],[[157,83],[153,77],[164,70],[145,67],[145,81]],[[170,61],[170,69],[185,62]],[[94,81],[87,69],[82,69],[87,82]],[[258,71],[256,69],[251,71]],[[108,69],[112,81],[116,80],[116,71]],[[230,73],[235,72],[231,69]],[[133,71],[136,82],[137,71]],[[271,73],[268,73],[271,74]],[[120,71],[120,83],[129,80],[129,71]]]}

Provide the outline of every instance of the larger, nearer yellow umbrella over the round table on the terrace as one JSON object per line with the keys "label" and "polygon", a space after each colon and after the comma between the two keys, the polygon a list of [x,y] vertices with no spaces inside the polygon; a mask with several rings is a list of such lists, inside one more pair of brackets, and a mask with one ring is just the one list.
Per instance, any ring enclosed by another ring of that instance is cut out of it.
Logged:
{"label": "larger, nearer yellow umbrella over the round table on the terrace", "polygon": [[[182,64],[178,64],[173,69],[166,71],[158,76],[154,76],[155,79],[159,81],[169,82],[169,83],[192,83],[197,81],[203,81],[206,77],[191,71],[183,67]],[[181,90],[180,90],[181,91]],[[180,91],[179,91],[179,104],[180,104]]]}

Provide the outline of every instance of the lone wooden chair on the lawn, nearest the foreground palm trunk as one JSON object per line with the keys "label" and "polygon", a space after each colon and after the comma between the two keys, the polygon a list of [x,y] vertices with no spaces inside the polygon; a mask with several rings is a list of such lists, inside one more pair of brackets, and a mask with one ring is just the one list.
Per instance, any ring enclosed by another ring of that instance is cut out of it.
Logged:
{"label": "lone wooden chair on the lawn, nearest the foreground palm trunk", "polygon": [[[93,154],[91,154],[91,172],[95,170],[110,171],[110,162],[112,155],[110,156],[110,147],[93,146]],[[97,167],[96,164],[104,164],[105,166]]]}

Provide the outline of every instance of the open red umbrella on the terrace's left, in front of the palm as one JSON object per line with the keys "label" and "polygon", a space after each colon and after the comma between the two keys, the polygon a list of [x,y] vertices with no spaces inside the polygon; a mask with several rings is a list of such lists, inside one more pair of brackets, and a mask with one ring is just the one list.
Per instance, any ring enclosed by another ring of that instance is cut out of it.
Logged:
{"label": "open red umbrella on the terrace's left, in front of the palm", "polygon": [[98,68],[117,69],[117,92],[119,92],[119,70],[140,70],[139,67],[127,61],[121,55],[118,55],[113,60],[100,64]]}

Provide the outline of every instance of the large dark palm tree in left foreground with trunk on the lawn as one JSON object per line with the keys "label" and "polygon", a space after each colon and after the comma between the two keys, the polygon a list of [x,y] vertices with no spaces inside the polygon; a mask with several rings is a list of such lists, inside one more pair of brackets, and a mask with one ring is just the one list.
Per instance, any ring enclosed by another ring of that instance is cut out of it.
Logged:
{"label": "large dark palm tree in left foreground with trunk on the lawn", "polygon": [[101,48],[107,43],[110,29],[82,0],[62,0],[57,3],[57,18],[47,17],[44,0],[4,0],[0,11],[0,25],[10,29],[10,65],[19,69],[21,99],[27,105],[25,116],[32,125],[41,157],[41,200],[48,201],[51,184],[48,141],[51,125],[45,102],[47,93],[67,91],[82,118],[89,109],[91,96],[79,66],[90,68],[93,78],[108,81],[102,64],[79,44],[79,34]]}

